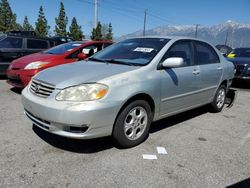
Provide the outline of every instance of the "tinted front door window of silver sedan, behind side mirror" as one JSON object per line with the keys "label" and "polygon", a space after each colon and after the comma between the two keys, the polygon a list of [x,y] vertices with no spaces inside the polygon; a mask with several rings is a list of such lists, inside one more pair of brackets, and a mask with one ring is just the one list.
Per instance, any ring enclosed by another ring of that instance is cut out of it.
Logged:
{"label": "tinted front door window of silver sedan, behind side mirror", "polygon": [[184,66],[193,65],[193,53],[191,43],[180,41],[172,45],[170,50],[163,56],[162,61],[170,57],[181,57],[184,60]]}

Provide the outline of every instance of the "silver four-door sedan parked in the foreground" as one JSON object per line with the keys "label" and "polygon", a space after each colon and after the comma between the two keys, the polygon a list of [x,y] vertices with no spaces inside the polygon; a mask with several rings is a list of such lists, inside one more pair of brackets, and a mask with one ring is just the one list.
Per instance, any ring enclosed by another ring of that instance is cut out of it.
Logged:
{"label": "silver four-door sedan parked in the foreground", "polygon": [[234,66],[212,45],[183,37],[127,39],[86,63],[38,73],[22,91],[35,126],[75,139],[143,142],[152,121],[205,104],[222,110]]}

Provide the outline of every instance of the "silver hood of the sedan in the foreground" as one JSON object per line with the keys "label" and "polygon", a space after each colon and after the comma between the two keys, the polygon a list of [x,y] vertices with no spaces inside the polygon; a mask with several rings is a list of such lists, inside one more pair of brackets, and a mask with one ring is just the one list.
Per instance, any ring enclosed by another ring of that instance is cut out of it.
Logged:
{"label": "silver hood of the sedan in the foreground", "polygon": [[41,71],[35,79],[53,84],[57,89],[63,89],[82,83],[98,82],[104,78],[139,68],[138,66],[79,61]]}

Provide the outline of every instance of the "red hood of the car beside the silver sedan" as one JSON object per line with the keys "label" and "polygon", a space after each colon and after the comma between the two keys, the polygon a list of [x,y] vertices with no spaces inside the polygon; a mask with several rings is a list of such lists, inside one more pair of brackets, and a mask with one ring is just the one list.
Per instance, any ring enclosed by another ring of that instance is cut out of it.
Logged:
{"label": "red hood of the car beside the silver sedan", "polygon": [[16,59],[12,61],[11,65],[13,68],[23,69],[26,65],[35,61],[51,62],[60,57],[61,57],[60,55],[54,55],[54,54],[35,53]]}

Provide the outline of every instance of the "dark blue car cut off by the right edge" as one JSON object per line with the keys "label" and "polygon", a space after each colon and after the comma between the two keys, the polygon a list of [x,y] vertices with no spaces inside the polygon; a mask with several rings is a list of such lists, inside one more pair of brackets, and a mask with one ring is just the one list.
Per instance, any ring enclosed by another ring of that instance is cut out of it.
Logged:
{"label": "dark blue car cut off by the right edge", "polygon": [[234,81],[250,82],[250,48],[236,48],[228,54],[228,60],[234,63]]}

